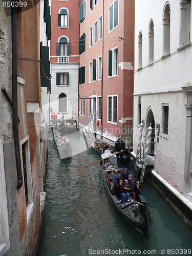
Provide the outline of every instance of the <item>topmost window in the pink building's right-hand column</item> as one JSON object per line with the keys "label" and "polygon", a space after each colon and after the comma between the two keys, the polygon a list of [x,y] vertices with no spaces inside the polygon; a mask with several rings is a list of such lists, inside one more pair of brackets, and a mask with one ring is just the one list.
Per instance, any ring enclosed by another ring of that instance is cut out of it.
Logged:
{"label": "topmost window in the pink building's right-hand column", "polygon": [[112,31],[119,24],[119,2],[116,0],[109,8],[109,31]]}

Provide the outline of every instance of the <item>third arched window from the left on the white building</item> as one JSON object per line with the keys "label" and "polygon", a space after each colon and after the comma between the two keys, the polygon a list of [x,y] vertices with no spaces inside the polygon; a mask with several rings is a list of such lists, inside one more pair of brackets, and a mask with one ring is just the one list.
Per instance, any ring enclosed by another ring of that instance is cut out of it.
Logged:
{"label": "third arched window from the left on the white building", "polygon": [[166,4],[163,13],[163,55],[170,52],[170,6]]}

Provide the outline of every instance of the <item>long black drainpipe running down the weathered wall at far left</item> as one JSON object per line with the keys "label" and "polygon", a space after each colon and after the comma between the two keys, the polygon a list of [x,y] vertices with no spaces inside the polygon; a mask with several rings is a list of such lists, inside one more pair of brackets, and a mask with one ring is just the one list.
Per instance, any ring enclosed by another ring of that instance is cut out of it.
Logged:
{"label": "long black drainpipe running down the weathered wall at far left", "polygon": [[15,160],[17,168],[17,185],[19,189],[23,185],[22,166],[20,163],[20,147],[18,138],[18,118],[17,118],[17,8],[11,7],[11,39],[12,39],[12,116],[13,116],[13,136],[15,145]]}

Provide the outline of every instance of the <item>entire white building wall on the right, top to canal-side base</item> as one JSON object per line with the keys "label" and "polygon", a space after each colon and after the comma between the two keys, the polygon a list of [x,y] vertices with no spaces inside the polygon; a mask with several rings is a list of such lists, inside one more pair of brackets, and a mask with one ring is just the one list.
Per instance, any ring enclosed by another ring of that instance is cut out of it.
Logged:
{"label": "entire white building wall on the right, top to canal-side base", "polygon": [[[170,54],[163,55],[163,10],[170,4]],[[154,61],[149,63],[148,30],[154,22]],[[142,68],[138,69],[138,36],[142,32]],[[191,34],[191,28],[190,28]],[[135,1],[135,84],[134,84],[134,152],[139,134],[138,96],[141,96],[141,119],[152,109],[155,120],[154,169],[183,193],[186,182],[185,144],[187,94],[182,90],[192,81],[192,46],[180,49],[180,0]],[[168,136],[163,136],[162,104],[169,105]],[[160,124],[159,142],[157,127]],[[143,135],[145,134],[143,133]]]}

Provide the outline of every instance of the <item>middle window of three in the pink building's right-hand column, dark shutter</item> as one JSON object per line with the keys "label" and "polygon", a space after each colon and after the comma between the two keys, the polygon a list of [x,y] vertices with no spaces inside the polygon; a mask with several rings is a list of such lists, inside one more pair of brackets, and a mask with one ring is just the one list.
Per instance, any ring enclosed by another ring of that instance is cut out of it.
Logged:
{"label": "middle window of three in the pink building's right-hand column, dark shutter", "polygon": [[118,48],[108,52],[108,76],[118,75]]}

